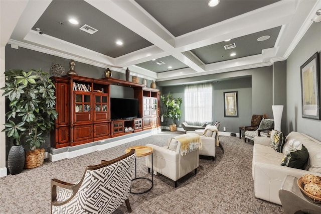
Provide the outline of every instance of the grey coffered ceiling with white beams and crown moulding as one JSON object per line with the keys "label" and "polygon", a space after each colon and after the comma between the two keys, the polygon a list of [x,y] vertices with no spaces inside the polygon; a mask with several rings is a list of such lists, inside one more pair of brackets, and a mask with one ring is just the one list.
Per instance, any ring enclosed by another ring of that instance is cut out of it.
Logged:
{"label": "grey coffered ceiling with white beams and crown moulding", "polygon": [[164,81],[285,60],[320,0],[220,0],[213,8],[207,0],[2,1],[2,12],[4,5],[16,8],[6,20],[14,47]]}

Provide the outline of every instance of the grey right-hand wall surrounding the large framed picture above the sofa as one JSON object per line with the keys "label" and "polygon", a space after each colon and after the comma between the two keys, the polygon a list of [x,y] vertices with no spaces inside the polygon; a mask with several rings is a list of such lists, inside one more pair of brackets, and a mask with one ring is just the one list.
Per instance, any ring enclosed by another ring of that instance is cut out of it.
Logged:
{"label": "grey right-hand wall surrounding the large framed picture above the sofa", "polygon": [[286,61],[287,131],[305,133],[318,140],[321,140],[321,121],[302,118],[300,66],[320,52],[320,35],[321,23],[312,23]]}

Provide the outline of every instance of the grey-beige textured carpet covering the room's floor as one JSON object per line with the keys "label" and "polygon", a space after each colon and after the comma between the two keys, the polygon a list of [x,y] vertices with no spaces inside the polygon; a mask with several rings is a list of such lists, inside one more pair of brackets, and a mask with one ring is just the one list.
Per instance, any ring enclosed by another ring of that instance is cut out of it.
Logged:
{"label": "grey-beige textured carpet covering the room's floor", "polygon": [[[50,213],[50,180],[75,183],[88,165],[122,155],[127,147],[147,143],[164,146],[168,138],[182,132],[163,131],[104,151],[57,162],[46,161],[35,169],[0,178],[0,213]],[[254,196],[251,176],[253,145],[237,137],[220,136],[216,158],[202,157],[194,171],[178,181],[157,174],[153,188],[143,194],[130,194],[132,213],[283,213],[280,205]],[[137,157],[137,176],[150,177],[144,157]],[[145,184],[150,183],[143,180]],[[139,183],[135,183],[139,185]],[[114,213],[127,213],[121,205]]]}

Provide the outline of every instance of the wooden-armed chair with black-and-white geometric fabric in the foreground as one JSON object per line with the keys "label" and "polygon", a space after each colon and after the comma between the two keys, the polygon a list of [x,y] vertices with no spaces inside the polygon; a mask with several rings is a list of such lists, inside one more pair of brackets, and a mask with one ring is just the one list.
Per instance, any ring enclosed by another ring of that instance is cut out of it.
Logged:
{"label": "wooden-armed chair with black-and-white geometric fabric in the foreground", "polygon": [[[123,202],[128,212],[135,150],[101,164],[87,166],[76,184],[51,180],[52,213],[112,213]],[[62,187],[57,192],[57,186]]]}

